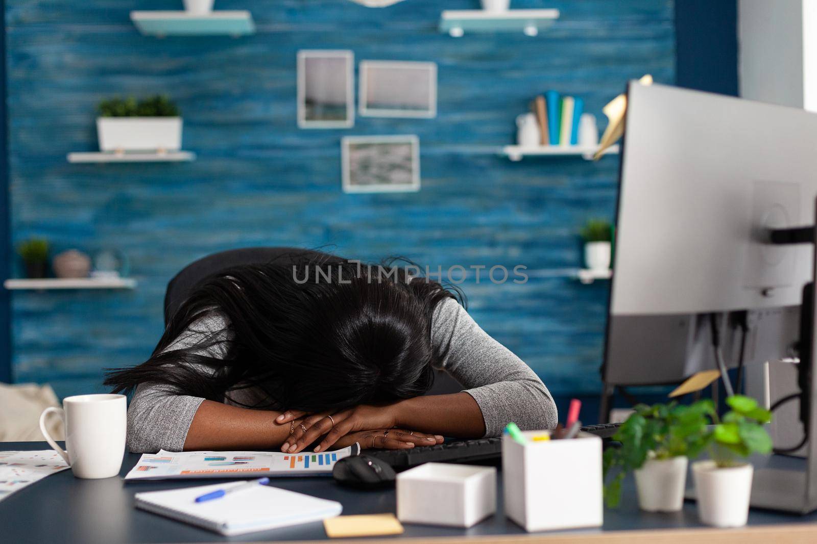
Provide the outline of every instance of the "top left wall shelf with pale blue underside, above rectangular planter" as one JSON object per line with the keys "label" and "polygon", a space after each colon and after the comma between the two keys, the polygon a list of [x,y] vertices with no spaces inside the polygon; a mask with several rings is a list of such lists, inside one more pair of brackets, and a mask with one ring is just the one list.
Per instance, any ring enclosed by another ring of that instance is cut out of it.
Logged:
{"label": "top left wall shelf with pale blue underside, above rectangular planter", "polygon": [[207,15],[187,11],[131,11],[139,32],[164,36],[243,36],[255,33],[249,11],[211,11]]}

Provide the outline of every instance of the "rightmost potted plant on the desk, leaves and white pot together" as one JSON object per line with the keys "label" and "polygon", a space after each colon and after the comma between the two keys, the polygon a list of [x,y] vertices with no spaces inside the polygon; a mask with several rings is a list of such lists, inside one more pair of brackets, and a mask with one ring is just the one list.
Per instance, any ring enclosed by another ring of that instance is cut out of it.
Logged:
{"label": "rightmost potted plant on the desk, leaves and white pot together", "polygon": [[692,475],[701,522],[742,527],[749,515],[754,472],[746,458],[771,452],[772,440],[763,427],[771,421],[771,413],[748,396],[730,396],[726,404],[730,411],[723,418],[712,414],[716,423],[708,435],[712,458],[694,462]]}

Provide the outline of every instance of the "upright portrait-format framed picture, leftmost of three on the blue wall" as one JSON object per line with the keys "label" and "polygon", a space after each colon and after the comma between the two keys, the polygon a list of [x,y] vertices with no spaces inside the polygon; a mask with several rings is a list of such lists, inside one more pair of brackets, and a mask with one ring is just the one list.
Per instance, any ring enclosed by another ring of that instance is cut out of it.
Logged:
{"label": "upright portrait-format framed picture, leftmost of three on the blue wall", "polygon": [[354,66],[351,51],[298,51],[298,127],[355,125]]}

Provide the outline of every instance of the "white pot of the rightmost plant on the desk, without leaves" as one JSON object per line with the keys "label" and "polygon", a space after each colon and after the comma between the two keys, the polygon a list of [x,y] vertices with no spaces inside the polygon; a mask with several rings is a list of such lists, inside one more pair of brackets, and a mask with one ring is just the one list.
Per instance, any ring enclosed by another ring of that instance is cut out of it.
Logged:
{"label": "white pot of the rightmost plant on the desk, without leaves", "polygon": [[692,463],[698,518],[713,527],[743,527],[752,497],[752,465],[718,468],[714,461]]}

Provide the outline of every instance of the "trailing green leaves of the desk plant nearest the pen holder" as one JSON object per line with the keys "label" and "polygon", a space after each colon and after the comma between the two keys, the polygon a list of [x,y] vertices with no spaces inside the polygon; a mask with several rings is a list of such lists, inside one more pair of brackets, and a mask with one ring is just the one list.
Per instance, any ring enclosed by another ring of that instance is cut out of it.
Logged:
{"label": "trailing green leaves of the desk plant nearest the pen holder", "polygon": [[[696,457],[709,441],[708,417],[715,414],[712,400],[699,400],[693,405],[637,405],[635,412],[623,422],[613,440],[620,448],[605,449],[603,467],[605,502],[618,506],[621,484],[627,472],[644,466],[647,459],[661,461],[679,457]],[[611,474],[612,473],[612,474]]]}

